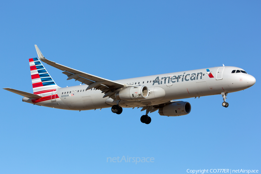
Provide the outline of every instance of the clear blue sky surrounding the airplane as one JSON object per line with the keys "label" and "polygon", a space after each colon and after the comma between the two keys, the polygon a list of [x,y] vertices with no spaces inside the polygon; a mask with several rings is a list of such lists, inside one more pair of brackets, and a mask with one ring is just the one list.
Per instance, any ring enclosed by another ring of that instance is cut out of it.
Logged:
{"label": "clear blue sky surrounding the airplane", "polygon": [[[249,89],[183,99],[191,113],[140,108],[69,111],[22,102],[2,89],[0,173],[187,173],[187,169],[261,170],[260,1],[2,1],[1,88],[32,93],[29,58],[110,80],[237,66],[256,78]],[[61,70],[43,63],[61,87]],[[154,162],[106,162],[107,157]]]}

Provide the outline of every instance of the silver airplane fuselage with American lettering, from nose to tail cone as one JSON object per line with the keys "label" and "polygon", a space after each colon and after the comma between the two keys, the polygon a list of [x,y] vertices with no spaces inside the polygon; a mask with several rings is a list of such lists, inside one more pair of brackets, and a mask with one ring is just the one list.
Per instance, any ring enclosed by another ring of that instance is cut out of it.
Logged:
{"label": "silver airplane fuselage with American lettering, from nose to tail cone", "polygon": [[[51,100],[35,103],[32,99],[24,97],[23,102],[68,110],[108,108],[117,102],[124,108],[142,107],[162,104],[170,100],[217,95],[222,92],[233,93],[247,89],[255,84],[253,76],[245,73],[231,73],[233,70],[242,70],[242,68],[221,66],[115,80],[123,84],[147,86],[150,90],[149,96],[146,99],[137,101],[113,101],[109,97],[103,98],[104,93],[100,90],[94,88],[86,90],[88,86],[84,84],[59,88],[56,90],[57,95],[44,94],[46,96],[52,95]],[[209,73],[211,73],[211,76],[213,75],[212,78]]]}

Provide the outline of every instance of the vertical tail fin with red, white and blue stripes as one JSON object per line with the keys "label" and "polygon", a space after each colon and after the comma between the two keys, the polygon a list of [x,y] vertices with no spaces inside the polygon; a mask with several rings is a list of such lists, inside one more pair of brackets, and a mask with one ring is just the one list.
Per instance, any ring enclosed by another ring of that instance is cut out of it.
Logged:
{"label": "vertical tail fin with red, white and blue stripes", "polygon": [[29,59],[34,94],[50,93],[58,88],[39,59]]}

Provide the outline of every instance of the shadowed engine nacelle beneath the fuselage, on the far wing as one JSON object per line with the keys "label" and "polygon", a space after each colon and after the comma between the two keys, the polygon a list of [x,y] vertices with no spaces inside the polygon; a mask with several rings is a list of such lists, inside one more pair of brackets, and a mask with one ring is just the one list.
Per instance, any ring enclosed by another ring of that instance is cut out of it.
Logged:
{"label": "shadowed engine nacelle beneath the fuselage, on the far wing", "polygon": [[187,115],[191,111],[191,105],[189,102],[177,102],[166,105],[159,109],[160,115],[163,116],[180,116]]}

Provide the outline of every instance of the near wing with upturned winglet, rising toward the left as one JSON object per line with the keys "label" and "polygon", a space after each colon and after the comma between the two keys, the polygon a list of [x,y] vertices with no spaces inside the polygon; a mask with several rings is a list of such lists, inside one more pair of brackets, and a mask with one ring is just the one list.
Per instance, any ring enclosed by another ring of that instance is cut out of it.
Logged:
{"label": "near wing with upturned winglet, rising toward the left", "polygon": [[81,84],[86,84],[88,85],[88,88],[86,88],[86,90],[91,89],[91,88],[95,88],[96,90],[101,90],[102,93],[104,93],[105,95],[104,97],[111,97],[113,99],[115,99],[115,97],[113,96],[115,94],[115,91],[119,88],[128,86],[126,84],[122,84],[122,83],[118,83],[116,81],[112,81],[112,80],[108,80],[108,79],[104,79],[102,77],[98,77],[95,75],[91,75],[88,73],[84,73],[82,71],[79,70],[75,70],[73,68],[69,68],[67,66],[63,66],[61,64],[57,64],[53,61],[50,61],[48,59],[46,59],[41,51],[39,50],[39,48],[37,47],[37,45],[35,45],[35,49],[37,51],[37,55],[39,57],[39,59],[43,62],[45,62],[46,64],[53,66],[55,68],[58,68],[63,72],[63,74],[67,75],[67,80],[70,79],[75,79],[75,81],[80,81]]}

